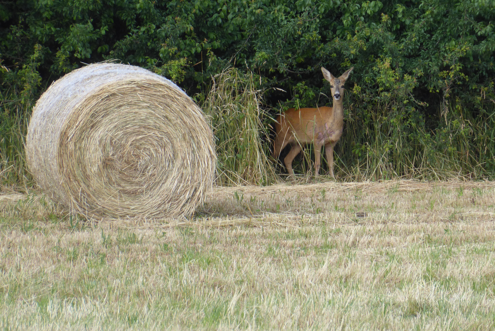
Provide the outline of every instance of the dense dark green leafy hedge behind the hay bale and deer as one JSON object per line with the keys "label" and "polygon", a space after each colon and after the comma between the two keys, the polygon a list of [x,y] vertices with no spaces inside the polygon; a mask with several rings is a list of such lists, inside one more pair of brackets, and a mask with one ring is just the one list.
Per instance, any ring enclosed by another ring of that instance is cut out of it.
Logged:
{"label": "dense dark green leafy hedge behind the hay bale and deer", "polygon": [[26,180],[21,133],[43,89],[81,62],[118,58],[198,100],[235,66],[282,109],[331,104],[319,67],[353,65],[341,178],[493,178],[495,1],[288,2],[3,1],[3,177]]}

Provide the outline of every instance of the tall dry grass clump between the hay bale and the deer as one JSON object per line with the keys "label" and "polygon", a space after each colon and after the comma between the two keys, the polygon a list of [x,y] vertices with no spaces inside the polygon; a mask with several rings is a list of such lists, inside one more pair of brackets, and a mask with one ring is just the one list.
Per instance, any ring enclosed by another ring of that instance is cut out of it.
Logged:
{"label": "tall dry grass clump between the hay bale and the deer", "polygon": [[268,159],[267,110],[252,72],[229,68],[215,75],[203,110],[211,120],[218,157],[218,185],[267,185],[277,181]]}

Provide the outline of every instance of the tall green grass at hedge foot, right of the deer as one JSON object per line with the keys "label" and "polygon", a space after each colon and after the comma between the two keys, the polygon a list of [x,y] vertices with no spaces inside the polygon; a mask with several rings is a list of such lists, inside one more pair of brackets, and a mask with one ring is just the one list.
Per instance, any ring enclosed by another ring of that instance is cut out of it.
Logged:
{"label": "tall green grass at hedge foot, right of the deer", "polygon": [[335,152],[341,179],[494,178],[495,105],[480,104],[475,112],[454,98],[427,119],[418,105],[369,102],[355,90],[349,94]]}

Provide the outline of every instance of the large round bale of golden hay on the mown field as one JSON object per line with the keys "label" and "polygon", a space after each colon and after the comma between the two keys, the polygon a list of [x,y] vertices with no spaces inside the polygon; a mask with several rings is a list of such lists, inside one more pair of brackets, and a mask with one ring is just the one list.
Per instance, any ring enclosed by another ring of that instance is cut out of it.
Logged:
{"label": "large round bale of golden hay on the mown field", "polygon": [[97,218],[190,216],[216,165],[193,100],[166,78],[115,63],[49,87],[33,110],[26,157],[54,201]]}

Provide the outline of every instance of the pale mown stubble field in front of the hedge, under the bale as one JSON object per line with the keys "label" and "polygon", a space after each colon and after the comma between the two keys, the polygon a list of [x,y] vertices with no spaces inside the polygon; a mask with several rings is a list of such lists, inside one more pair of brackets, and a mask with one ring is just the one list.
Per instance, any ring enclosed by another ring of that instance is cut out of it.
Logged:
{"label": "pale mown stubble field in front of the hedge, under the bale", "polygon": [[495,182],[215,188],[190,220],[0,196],[0,330],[494,330]]}

